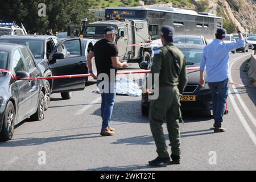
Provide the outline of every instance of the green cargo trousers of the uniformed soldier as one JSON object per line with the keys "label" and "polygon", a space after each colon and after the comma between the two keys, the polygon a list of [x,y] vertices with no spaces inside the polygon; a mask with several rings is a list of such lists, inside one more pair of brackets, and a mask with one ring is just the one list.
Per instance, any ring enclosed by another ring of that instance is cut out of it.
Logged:
{"label": "green cargo trousers of the uniformed soldier", "polygon": [[181,118],[179,89],[177,86],[159,87],[159,97],[150,101],[150,128],[160,158],[169,157],[163,133],[163,122],[167,119],[167,129],[173,155],[180,155],[179,119]]}

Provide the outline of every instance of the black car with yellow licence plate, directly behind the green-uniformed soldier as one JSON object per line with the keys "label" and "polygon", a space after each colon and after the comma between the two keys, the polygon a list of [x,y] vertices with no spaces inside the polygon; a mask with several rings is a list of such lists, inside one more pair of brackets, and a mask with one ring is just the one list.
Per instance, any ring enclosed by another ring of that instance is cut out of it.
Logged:
{"label": "black car with yellow licence plate, directly behind the green-uniformed soldier", "polygon": [[[200,67],[204,46],[197,44],[175,44],[175,46],[179,48],[180,51],[185,55],[187,60],[187,68]],[[151,64],[148,65],[148,67],[144,65],[144,68],[150,68]],[[148,100],[148,96],[146,94],[147,76],[148,75],[145,76],[142,83],[141,108],[143,115],[148,113],[148,108],[150,105],[150,101]],[[183,96],[180,97],[181,110],[212,110],[212,97],[210,95],[209,86],[207,81],[205,81],[205,86],[201,86],[199,84],[199,76],[199,69],[188,71],[188,83],[185,86]],[[228,110],[226,110],[225,113],[228,113]]]}

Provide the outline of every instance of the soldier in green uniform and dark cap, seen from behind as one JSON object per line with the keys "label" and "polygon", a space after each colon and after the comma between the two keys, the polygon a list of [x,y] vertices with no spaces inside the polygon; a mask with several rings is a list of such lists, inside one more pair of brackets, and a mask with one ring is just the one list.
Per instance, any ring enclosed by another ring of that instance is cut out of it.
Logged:
{"label": "soldier in green uniform and dark cap, seen from behind", "polygon": [[[156,144],[158,157],[150,162],[151,166],[159,164],[180,163],[180,131],[179,120],[180,94],[187,84],[186,60],[183,53],[172,43],[174,28],[163,26],[160,32],[163,47],[154,51],[151,73],[159,74],[159,97],[150,101],[150,128]],[[153,84],[156,81],[153,81]],[[150,94],[151,90],[147,89]],[[171,159],[163,133],[163,122],[167,121],[167,129],[171,146]]]}

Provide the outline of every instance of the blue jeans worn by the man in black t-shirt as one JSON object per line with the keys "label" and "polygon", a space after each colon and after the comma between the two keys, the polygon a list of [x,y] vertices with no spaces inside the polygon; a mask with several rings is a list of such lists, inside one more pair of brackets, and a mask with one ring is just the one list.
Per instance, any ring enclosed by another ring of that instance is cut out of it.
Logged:
{"label": "blue jeans worn by the man in black t-shirt", "polygon": [[115,82],[105,82],[105,84],[108,84],[108,92],[104,92],[105,85],[99,88],[99,84],[102,81],[97,81],[98,89],[100,89],[101,92],[101,118],[102,118],[102,130],[109,128],[109,122],[112,117],[112,111],[114,106],[114,100],[115,100]]}

